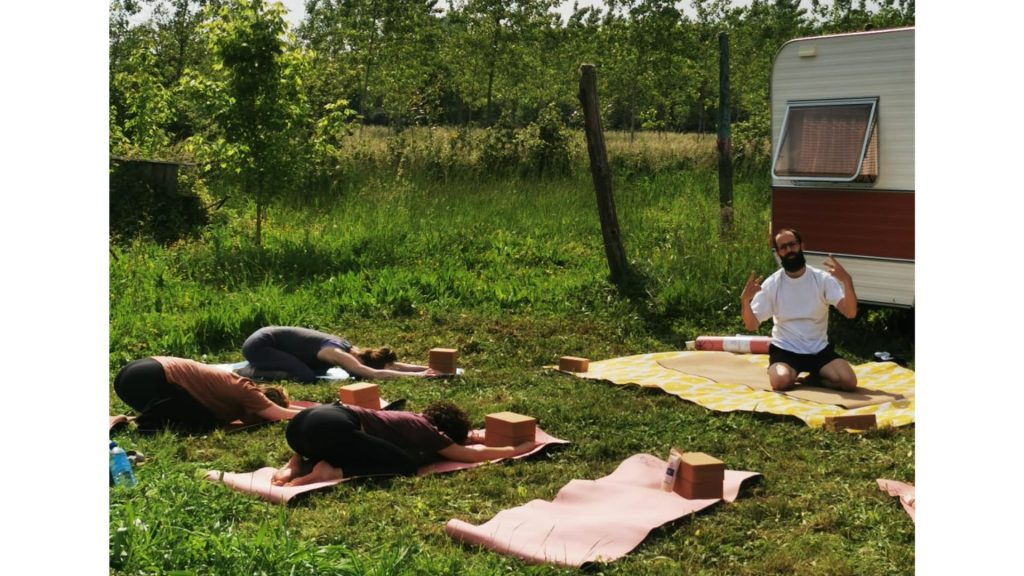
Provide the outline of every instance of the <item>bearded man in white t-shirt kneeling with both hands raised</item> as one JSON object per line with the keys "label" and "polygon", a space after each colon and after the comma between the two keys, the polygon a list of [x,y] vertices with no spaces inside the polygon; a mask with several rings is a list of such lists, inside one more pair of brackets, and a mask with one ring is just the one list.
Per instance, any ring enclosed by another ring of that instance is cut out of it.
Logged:
{"label": "bearded man in white t-shirt kneeling with both hands raised", "polygon": [[[762,282],[755,273],[739,296],[743,324],[750,331],[772,319],[768,347],[768,381],[784,392],[798,383],[823,384],[841,390],[857,387],[857,375],[828,342],[828,306],[846,318],[857,316],[853,278],[833,257],[826,271],[808,265],[800,233],[783,229],[772,239],[782,268]],[[798,381],[802,372],[810,375]]]}

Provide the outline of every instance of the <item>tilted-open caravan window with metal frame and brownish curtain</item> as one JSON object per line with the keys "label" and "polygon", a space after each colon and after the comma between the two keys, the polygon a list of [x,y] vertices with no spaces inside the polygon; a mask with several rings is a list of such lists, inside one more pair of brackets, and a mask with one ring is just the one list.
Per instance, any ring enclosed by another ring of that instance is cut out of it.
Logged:
{"label": "tilted-open caravan window with metal frame and brownish curtain", "polygon": [[772,175],[872,182],[879,175],[878,99],[790,102]]}

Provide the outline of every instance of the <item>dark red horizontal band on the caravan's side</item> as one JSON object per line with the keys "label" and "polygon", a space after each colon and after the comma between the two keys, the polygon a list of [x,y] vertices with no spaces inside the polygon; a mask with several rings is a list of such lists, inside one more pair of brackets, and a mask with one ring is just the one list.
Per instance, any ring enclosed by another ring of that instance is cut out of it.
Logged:
{"label": "dark red horizontal band on the caravan's side", "polygon": [[773,188],[771,212],[805,250],[913,259],[913,193]]}

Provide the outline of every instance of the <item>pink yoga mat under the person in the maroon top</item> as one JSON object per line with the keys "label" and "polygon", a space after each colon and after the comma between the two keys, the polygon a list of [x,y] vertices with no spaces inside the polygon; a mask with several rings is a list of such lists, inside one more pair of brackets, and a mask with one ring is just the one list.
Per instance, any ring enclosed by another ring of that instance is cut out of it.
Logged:
{"label": "pink yoga mat under the person in the maroon top", "polygon": [[[477,430],[482,433],[483,430]],[[525,458],[531,454],[537,454],[538,452],[544,450],[552,444],[568,444],[568,441],[555,438],[548,433],[542,430],[540,427],[537,428],[536,440],[538,445],[536,448],[526,452],[525,454],[520,454],[514,456],[513,459]],[[430,474],[440,474],[440,472],[451,472],[455,470],[462,470],[466,468],[472,468],[475,466],[480,466],[488,462],[500,462],[504,458],[497,458],[495,460],[486,460],[483,462],[456,462],[454,460],[439,460],[421,466],[417,470],[417,476],[427,476]],[[330,488],[336,486],[343,482],[348,482],[349,480],[355,480],[356,478],[365,477],[352,477],[343,480],[333,480],[330,482],[317,482],[314,484],[306,484],[304,486],[274,486],[270,484],[270,479],[273,478],[273,471],[275,468],[267,466],[260,468],[253,472],[221,472],[220,470],[210,470],[206,472],[206,480],[211,482],[223,482],[224,486],[238,490],[240,492],[248,492],[254,494],[275,504],[285,504],[292,498],[298,496],[299,494],[304,494],[306,492],[312,492],[314,490],[322,490],[325,488]],[[385,475],[391,476],[391,475]]]}

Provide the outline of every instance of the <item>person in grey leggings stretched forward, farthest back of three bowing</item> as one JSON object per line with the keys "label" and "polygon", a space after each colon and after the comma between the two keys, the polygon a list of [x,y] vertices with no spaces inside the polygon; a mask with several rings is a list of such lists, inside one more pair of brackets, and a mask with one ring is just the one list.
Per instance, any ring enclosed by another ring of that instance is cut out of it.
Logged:
{"label": "person in grey leggings stretched forward, farthest back of three bowing", "polygon": [[334,366],[362,378],[437,375],[426,366],[398,362],[387,346],[360,348],[345,338],[295,326],[260,328],[246,339],[242,356],[252,369],[246,375],[261,379],[314,382]]}

